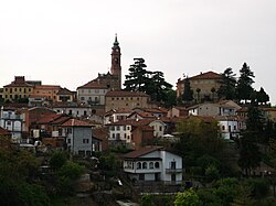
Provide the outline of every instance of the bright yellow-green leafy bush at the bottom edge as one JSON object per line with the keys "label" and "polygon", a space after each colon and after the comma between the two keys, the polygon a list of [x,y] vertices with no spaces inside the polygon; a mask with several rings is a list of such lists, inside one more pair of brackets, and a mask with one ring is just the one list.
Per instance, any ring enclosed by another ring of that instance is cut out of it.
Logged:
{"label": "bright yellow-green leafy bush at the bottom edge", "polygon": [[202,202],[200,200],[198,194],[193,188],[184,191],[184,193],[178,193],[174,206],[201,206]]}

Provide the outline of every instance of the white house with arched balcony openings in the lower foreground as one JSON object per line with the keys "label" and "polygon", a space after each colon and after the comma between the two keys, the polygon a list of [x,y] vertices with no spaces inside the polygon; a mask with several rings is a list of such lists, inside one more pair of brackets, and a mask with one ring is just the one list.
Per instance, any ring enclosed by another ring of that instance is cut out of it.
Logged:
{"label": "white house with arched balcony openings in the lower foreground", "polygon": [[124,155],[124,172],[131,181],[163,181],[181,184],[182,158],[162,147],[146,147]]}

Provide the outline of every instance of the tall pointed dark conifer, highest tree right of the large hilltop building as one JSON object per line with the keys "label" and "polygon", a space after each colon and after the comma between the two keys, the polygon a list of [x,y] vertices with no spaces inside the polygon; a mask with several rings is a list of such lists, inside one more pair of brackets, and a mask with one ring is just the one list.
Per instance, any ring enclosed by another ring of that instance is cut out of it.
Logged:
{"label": "tall pointed dark conifer, highest tree right of the large hilltop building", "polygon": [[243,67],[240,69],[240,78],[236,84],[236,97],[238,100],[251,99],[251,95],[254,91],[252,84],[254,83],[254,73],[251,71],[250,66],[246,63],[243,64]]}

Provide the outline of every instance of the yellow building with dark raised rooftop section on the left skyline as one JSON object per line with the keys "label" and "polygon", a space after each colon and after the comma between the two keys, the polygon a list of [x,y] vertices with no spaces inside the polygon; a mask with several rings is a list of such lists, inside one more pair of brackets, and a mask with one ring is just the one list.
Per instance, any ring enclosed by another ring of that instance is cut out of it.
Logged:
{"label": "yellow building with dark raised rooftop section on the left skyline", "polygon": [[11,84],[3,86],[2,96],[4,101],[29,98],[33,94],[33,88],[34,85],[25,82],[24,76],[15,76]]}

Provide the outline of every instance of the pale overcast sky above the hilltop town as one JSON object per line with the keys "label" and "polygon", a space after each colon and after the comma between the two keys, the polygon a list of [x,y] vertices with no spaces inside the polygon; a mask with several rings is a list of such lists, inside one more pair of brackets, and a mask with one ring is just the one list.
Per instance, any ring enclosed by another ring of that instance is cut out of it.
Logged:
{"label": "pale overcast sky above the hilltop town", "polygon": [[124,76],[134,57],[173,86],[246,62],[276,105],[276,0],[0,0],[0,87],[75,90],[109,71],[115,33]]}

